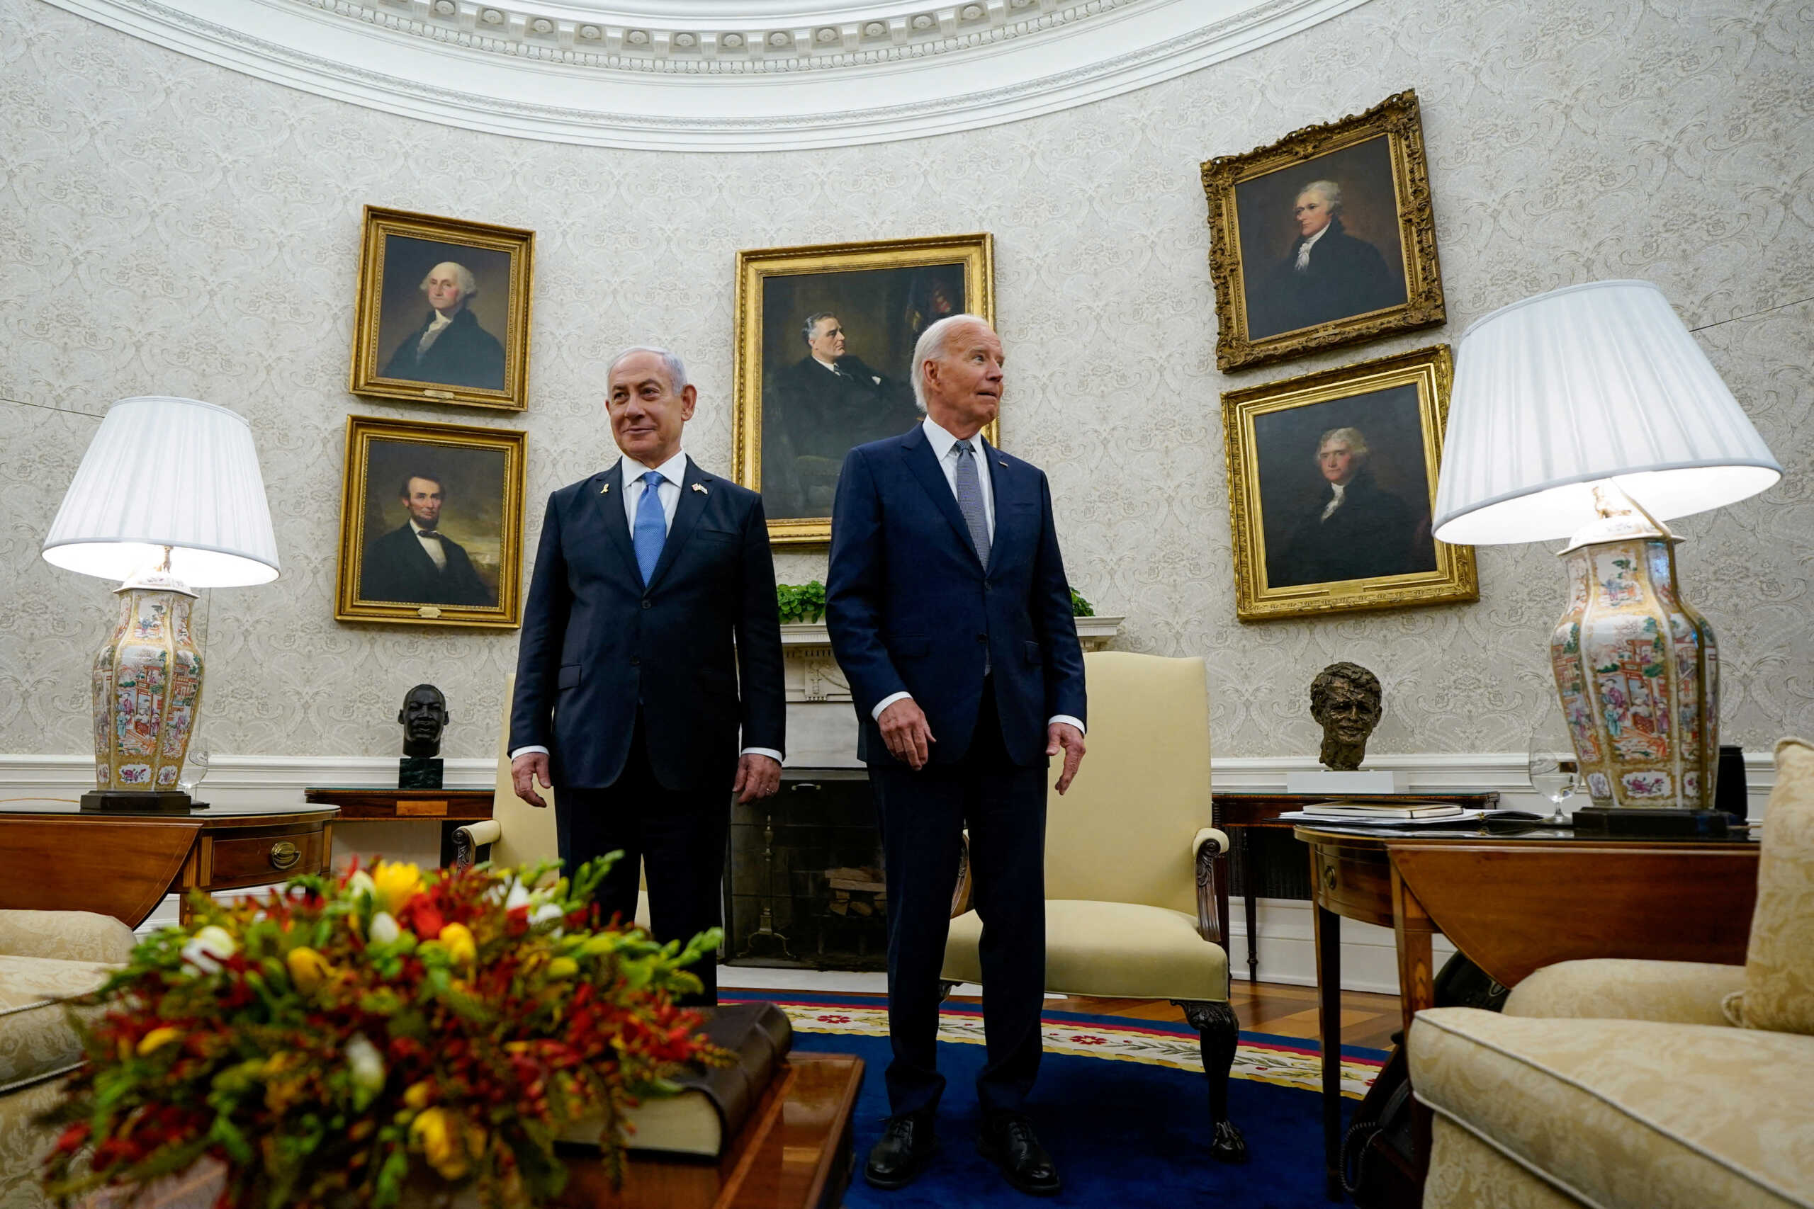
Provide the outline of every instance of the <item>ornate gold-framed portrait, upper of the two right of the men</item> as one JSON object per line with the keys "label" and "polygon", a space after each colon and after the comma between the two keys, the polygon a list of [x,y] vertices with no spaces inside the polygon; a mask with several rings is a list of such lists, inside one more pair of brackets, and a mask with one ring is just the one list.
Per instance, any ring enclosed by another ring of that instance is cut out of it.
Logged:
{"label": "ornate gold-framed portrait, upper of the two right of the men", "polygon": [[1203,165],[1215,368],[1444,321],[1417,92]]}

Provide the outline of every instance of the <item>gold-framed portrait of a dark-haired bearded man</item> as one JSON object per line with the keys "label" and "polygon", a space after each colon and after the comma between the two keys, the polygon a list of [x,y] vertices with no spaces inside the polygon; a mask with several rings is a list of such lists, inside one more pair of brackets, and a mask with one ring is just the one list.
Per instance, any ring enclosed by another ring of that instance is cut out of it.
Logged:
{"label": "gold-framed portrait of a dark-haired bearded man", "polygon": [[517,629],[524,440],[348,415],[334,618]]}

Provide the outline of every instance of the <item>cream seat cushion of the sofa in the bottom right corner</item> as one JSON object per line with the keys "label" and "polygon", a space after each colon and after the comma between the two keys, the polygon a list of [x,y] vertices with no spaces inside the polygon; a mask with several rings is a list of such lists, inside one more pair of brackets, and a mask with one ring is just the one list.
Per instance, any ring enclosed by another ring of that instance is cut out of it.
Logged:
{"label": "cream seat cushion of the sofa in the bottom right corner", "polygon": [[1589,1205],[1814,1209],[1814,1039],[1420,1011],[1411,1088]]}

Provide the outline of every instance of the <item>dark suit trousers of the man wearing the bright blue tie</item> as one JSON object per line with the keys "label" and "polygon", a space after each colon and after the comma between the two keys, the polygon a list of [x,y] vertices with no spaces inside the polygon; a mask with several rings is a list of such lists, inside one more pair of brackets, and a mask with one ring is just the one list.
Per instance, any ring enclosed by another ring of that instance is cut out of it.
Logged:
{"label": "dark suit trousers of the man wearing the bright blue tie", "polygon": [[[731,825],[731,792],[675,792],[662,788],[649,769],[642,714],[629,740],[629,759],[610,788],[562,788],[555,794],[555,832],[561,865],[573,870],[606,852],[622,850],[599,885],[604,919],[629,923],[637,915],[637,874],[648,866],[649,932],[657,941],[691,941],[724,923],[718,885],[724,881],[724,845]],[[718,964],[706,953],[693,964],[704,984],[682,1004],[718,1002]]]}

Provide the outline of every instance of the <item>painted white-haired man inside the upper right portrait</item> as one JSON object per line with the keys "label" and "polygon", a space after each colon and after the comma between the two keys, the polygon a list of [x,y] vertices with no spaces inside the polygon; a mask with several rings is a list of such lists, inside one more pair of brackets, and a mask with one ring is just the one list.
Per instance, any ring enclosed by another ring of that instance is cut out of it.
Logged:
{"label": "painted white-haired man inside the upper right portrait", "polygon": [[1248,290],[1248,339],[1364,315],[1404,303],[1404,268],[1386,265],[1366,239],[1342,227],[1342,187],[1312,181],[1292,203],[1297,239],[1261,290]]}

